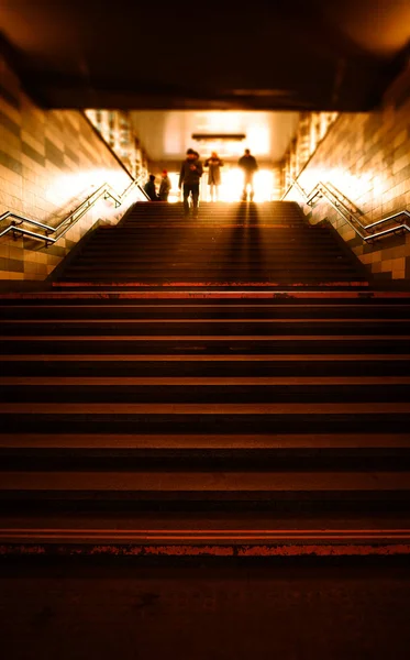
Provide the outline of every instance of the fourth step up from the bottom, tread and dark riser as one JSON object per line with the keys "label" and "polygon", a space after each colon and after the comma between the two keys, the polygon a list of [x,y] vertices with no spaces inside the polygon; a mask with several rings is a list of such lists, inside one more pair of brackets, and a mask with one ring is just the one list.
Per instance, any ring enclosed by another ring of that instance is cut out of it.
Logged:
{"label": "fourth step up from the bottom, tread and dark riser", "polygon": [[[109,397],[107,397],[109,399]],[[54,399],[51,399],[52,402]],[[14,433],[402,433],[410,403],[2,403]]]}

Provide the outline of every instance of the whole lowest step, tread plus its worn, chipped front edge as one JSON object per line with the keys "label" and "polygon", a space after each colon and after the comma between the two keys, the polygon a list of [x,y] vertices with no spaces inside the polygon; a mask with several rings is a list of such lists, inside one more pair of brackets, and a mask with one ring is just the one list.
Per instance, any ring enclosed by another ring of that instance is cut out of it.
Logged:
{"label": "whole lowest step, tread plus its worn, chipped front edge", "polygon": [[[409,547],[408,515],[361,516],[325,514],[287,516],[275,513],[197,512],[196,515],[164,516],[159,512],[115,516],[102,512],[76,516],[66,513],[9,516],[0,520],[0,543],[8,554],[24,544],[35,543],[38,551],[77,556],[143,553],[145,557],[300,557],[400,554]],[[131,550],[132,549],[132,550]],[[203,568],[201,569],[203,571]]]}

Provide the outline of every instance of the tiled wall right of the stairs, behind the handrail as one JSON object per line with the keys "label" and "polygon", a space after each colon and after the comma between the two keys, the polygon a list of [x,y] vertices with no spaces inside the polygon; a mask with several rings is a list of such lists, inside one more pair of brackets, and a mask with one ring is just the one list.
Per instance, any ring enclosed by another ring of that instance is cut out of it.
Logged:
{"label": "tiled wall right of the stairs, behind the handrail", "polygon": [[[410,72],[395,82],[377,112],[340,114],[298,180],[308,193],[320,180],[332,184],[366,224],[409,209]],[[302,204],[296,188],[286,199]],[[410,279],[409,232],[369,245],[324,199],[303,210],[312,223],[332,222],[375,278]]]}

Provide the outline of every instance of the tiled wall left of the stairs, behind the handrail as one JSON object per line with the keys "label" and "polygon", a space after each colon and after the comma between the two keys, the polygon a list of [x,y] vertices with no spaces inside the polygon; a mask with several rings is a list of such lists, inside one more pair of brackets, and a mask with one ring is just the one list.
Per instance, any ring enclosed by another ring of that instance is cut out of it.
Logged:
{"label": "tiled wall left of the stairs, behind the handrail", "polygon": [[[0,216],[10,210],[55,227],[106,182],[121,194],[131,178],[87,119],[37,108],[0,59]],[[101,199],[51,248],[1,238],[0,279],[45,279],[97,220],[117,222],[133,200],[114,209]]]}

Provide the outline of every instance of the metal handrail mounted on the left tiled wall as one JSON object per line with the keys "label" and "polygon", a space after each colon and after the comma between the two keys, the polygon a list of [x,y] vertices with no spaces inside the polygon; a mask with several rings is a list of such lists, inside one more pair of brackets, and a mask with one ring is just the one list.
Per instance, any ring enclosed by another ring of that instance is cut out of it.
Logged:
{"label": "metal handrail mounted on the left tiled wall", "polygon": [[[16,240],[21,235],[26,235],[32,239],[45,241],[45,246],[54,245],[59,239],[62,239],[67,231],[76,223],[82,216],[95,206],[95,204],[103,197],[104,199],[112,199],[114,201],[115,208],[122,205],[122,201],[132,189],[137,187],[143,196],[148,199],[145,190],[141,187],[140,183],[136,179],[133,179],[131,184],[121,193],[120,195],[115,193],[115,190],[110,186],[110,184],[103,184],[97,190],[91,193],[81,204],[71,211],[66,218],[64,218],[56,227],[52,227],[49,224],[45,224],[44,222],[38,222],[38,220],[33,220],[32,218],[27,218],[26,216],[21,216],[20,213],[14,213],[13,211],[5,211],[2,216],[0,216],[0,222],[7,220],[8,218],[12,218],[10,224],[0,232],[0,238],[4,237],[9,232],[13,234],[14,240]],[[23,223],[32,224],[38,229],[43,229],[44,233],[37,233],[35,231],[31,231],[25,227],[20,227]],[[56,234],[52,237],[49,234]]]}

